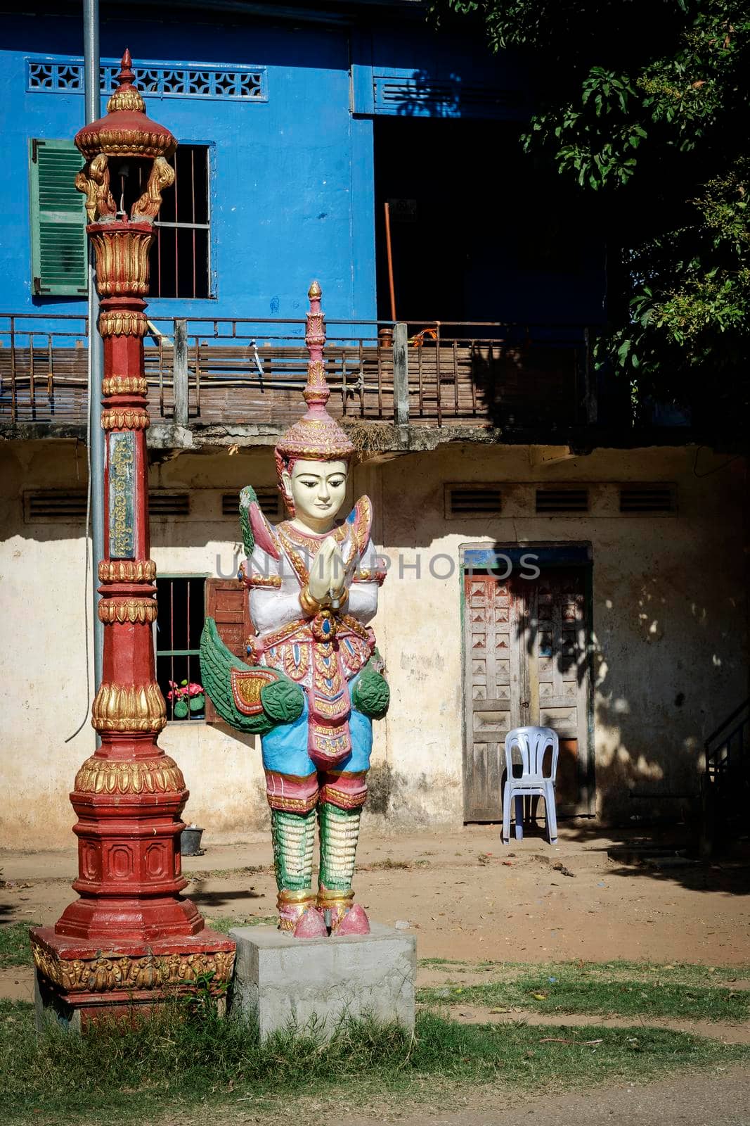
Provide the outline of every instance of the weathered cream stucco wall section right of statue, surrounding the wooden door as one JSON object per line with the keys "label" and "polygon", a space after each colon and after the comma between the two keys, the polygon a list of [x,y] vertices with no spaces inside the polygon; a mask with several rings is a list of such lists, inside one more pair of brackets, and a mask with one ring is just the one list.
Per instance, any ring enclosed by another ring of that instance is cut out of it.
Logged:
{"label": "weathered cream stucco wall section right of statue, surrounding the wooden door", "polygon": [[[496,446],[383,467],[382,539],[396,569],[399,553],[405,562],[404,579],[383,587],[380,617],[394,686],[388,761],[401,817],[461,816],[461,584],[458,569],[435,579],[431,556],[458,563],[466,544],[555,540],[590,543],[593,552],[597,813],[680,812],[697,790],[705,738],[747,695],[744,470],[738,462],[720,468],[725,462],[704,450],[697,476],[695,448],[652,448],[541,466],[526,448]],[[606,485],[626,481],[675,482],[678,516],[621,516]],[[446,519],[446,482],[500,482],[505,515]],[[590,482],[591,515],[536,517],[532,482]],[[448,561],[434,570],[445,573]]]}

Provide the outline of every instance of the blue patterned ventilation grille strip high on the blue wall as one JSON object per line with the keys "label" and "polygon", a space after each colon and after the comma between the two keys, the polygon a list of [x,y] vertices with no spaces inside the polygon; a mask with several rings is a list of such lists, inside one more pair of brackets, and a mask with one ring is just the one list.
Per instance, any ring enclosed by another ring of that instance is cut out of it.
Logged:
{"label": "blue patterned ventilation grille strip high on the blue wall", "polygon": [[[108,59],[99,70],[101,92],[117,88],[120,64]],[[220,98],[234,101],[266,101],[265,66],[206,66],[200,63],[174,66],[147,63],[133,68],[143,95],[159,98]],[[26,89],[52,93],[83,93],[82,59],[28,59]]]}

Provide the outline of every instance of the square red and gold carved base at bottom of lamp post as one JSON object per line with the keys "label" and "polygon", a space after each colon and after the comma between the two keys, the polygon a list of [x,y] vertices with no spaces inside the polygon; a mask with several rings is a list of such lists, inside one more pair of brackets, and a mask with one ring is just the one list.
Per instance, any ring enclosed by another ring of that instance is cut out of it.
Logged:
{"label": "square red and gold carved base at bottom of lamp post", "polygon": [[208,991],[223,1003],[234,971],[234,942],[205,928],[198,935],[111,946],[30,932],[36,967],[36,1019],[71,1031],[102,1018],[132,1019],[175,997]]}

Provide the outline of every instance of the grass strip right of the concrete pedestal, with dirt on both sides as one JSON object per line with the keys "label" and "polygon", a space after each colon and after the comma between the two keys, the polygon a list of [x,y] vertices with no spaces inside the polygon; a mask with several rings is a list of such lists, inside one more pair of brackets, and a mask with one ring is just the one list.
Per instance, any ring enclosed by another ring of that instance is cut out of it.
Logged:
{"label": "grass strip right of the concrete pedestal, with dirt on both sides", "polygon": [[[434,964],[434,963],[433,963]],[[454,973],[493,972],[491,964],[453,965]],[[732,974],[732,977],[730,977]],[[746,1020],[750,991],[732,989],[741,971],[707,966],[652,966],[641,963],[551,963],[506,965],[475,985],[448,982],[419,990],[424,1004],[477,1004],[546,1015],[589,1013],[622,1017],[687,1017],[694,1020]],[[724,984],[725,983],[725,984]]]}

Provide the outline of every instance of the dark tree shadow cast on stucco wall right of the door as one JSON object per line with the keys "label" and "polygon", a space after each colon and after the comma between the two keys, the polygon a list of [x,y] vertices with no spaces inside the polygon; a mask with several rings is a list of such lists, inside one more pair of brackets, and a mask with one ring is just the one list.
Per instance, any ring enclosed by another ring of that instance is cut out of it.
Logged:
{"label": "dark tree shadow cast on stucco wall right of the door", "polygon": [[[639,822],[683,822],[695,837],[704,741],[737,703],[728,692],[728,681],[737,680],[741,695],[742,670],[733,664],[724,669],[708,638],[697,635],[707,620],[705,607],[688,604],[686,598],[683,605],[689,605],[689,620],[670,620],[669,602],[676,589],[668,578],[640,577],[623,588],[631,590],[632,598],[627,620],[620,615],[609,625],[608,614],[615,611],[612,600],[597,604],[599,632],[589,623],[584,650],[570,646],[566,651],[560,645],[555,662],[559,672],[568,680],[575,676],[579,686],[590,677],[598,819],[631,830],[638,830]],[[668,628],[674,636],[669,647]],[[525,637],[530,656],[537,650],[539,634],[539,620],[522,614],[517,636]],[[690,698],[686,687],[699,680],[702,692]],[[578,834],[586,840],[597,835],[597,830],[585,824]]]}

